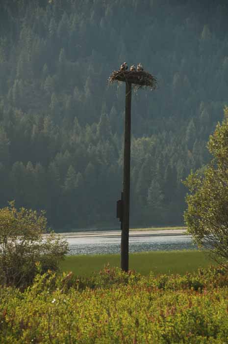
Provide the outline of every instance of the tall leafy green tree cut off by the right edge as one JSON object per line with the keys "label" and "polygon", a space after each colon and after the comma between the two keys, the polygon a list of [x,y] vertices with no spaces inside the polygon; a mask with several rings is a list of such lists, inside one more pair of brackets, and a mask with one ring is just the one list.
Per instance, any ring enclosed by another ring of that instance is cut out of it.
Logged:
{"label": "tall leafy green tree cut off by the right edge", "polygon": [[191,194],[184,214],[193,239],[221,263],[228,260],[228,107],[224,114],[208,142],[214,159],[203,174],[191,172],[185,181]]}

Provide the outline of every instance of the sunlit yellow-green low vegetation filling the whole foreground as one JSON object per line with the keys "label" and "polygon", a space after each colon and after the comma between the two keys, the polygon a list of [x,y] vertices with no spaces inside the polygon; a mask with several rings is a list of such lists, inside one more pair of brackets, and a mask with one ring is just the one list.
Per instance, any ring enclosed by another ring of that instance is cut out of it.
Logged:
{"label": "sunlit yellow-green low vegetation filling the whole foreground", "polygon": [[104,268],[91,278],[38,275],[24,292],[0,290],[7,344],[225,344],[228,273],[141,276]]}

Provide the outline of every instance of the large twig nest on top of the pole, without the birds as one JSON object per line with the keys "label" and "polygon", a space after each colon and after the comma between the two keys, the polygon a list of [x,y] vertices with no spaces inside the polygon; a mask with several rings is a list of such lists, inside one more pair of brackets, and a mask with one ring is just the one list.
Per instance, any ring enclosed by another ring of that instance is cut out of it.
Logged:
{"label": "large twig nest on top of the pole, without the birds", "polygon": [[111,84],[114,81],[123,81],[129,84],[133,84],[136,88],[143,86],[150,87],[151,90],[156,89],[157,79],[148,72],[143,71],[127,71],[127,70],[114,70],[108,82]]}

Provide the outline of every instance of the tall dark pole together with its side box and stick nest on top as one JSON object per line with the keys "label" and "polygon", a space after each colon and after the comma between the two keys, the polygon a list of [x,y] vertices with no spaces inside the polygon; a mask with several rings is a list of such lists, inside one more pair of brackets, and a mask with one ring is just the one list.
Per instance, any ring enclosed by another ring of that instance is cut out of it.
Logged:
{"label": "tall dark pole together with its side box and stick nest on top", "polygon": [[131,91],[132,84],[141,88],[148,86],[156,88],[156,78],[141,71],[113,71],[109,82],[122,81],[126,83],[125,92],[125,130],[124,130],[124,178],[121,200],[117,201],[117,218],[121,221],[121,268],[129,268],[129,214],[130,214],[130,128],[131,128]]}

